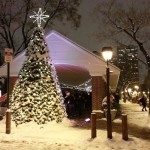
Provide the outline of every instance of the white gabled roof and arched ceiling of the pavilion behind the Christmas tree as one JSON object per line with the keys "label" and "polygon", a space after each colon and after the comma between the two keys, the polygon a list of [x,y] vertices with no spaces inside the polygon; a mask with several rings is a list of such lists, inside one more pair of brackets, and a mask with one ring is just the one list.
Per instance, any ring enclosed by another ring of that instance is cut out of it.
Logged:
{"label": "white gabled roof and arched ceiling of the pavilion behind the Christmas tree", "polygon": [[[56,67],[60,82],[79,85],[90,79],[90,76],[104,76],[106,62],[94,53],[86,50],[56,31],[51,31],[45,37],[49,55]],[[18,76],[25,60],[25,51],[18,54],[10,63],[10,76]],[[110,65],[112,71],[110,86],[115,89],[120,70]],[[0,76],[7,75],[7,65],[0,67]]]}

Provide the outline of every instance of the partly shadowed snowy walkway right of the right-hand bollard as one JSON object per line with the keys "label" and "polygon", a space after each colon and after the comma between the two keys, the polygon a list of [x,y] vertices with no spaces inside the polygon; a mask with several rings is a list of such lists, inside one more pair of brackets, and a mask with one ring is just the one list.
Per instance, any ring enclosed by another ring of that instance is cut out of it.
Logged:
{"label": "partly shadowed snowy walkway right of the right-hand bollard", "polygon": [[[122,113],[127,114],[129,134],[137,137],[150,140],[150,118],[148,111],[142,111],[139,104],[121,102]],[[147,109],[149,110],[149,109]]]}

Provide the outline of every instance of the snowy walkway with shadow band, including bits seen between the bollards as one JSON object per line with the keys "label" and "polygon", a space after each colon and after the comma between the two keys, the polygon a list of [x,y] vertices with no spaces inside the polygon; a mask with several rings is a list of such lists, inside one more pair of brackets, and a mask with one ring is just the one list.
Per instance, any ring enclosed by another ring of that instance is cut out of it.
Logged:
{"label": "snowy walkway with shadow band, including bits seen between the bollards", "polygon": [[[130,102],[120,102],[120,104],[122,114],[127,114],[129,138],[137,137],[150,141],[150,118],[148,117],[148,111],[141,111],[142,107],[139,104]],[[98,120],[97,128],[106,130],[105,118]],[[112,130],[122,134],[121,116],[112,122]]]}

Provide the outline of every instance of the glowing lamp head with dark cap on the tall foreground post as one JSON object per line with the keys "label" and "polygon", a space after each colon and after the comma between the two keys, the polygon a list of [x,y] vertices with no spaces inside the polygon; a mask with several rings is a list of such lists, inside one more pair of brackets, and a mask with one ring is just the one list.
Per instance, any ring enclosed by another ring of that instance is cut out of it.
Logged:
{"label": "glowing lamp head with dark cap on the tall foreground post", "polygon": [[113,50],[111,47],[102,48],[102,56],[106,61],[109,61],[112,58]]}

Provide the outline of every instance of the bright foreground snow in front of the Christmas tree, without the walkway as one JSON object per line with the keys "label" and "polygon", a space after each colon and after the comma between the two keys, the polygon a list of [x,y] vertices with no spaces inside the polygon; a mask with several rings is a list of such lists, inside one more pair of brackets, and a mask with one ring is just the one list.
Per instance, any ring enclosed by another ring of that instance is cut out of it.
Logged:
{"label": "bright foreground snow in front of the Christmas tree, without the walkway", "polygon": [[[103,119],[105,121],[105,119]],[[119,123],[116,119],[115,123]],[[83,122],[84,123],[84,122]],[[83,126],[80,126],[83,125]],[[18,127],[12,123],[11,134],[5,133],[5,120],[0,121],[0,150],[149,150],[150,141],[113,132],[113,139],[107,139],[106,129],[98,129],[97,137],[91,139],[90,123],[76,124],[65,119],[63,123],[51,122],[47,125],[35,123]],[[103,127],[104,128],[104,127]]]}

